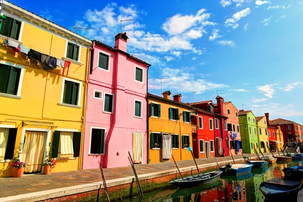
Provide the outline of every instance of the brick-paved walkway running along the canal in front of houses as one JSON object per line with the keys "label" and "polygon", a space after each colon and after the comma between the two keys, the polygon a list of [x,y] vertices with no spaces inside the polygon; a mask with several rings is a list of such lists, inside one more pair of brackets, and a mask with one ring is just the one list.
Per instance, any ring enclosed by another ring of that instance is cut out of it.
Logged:
{"label": "brick-paved walkway running along the canal in front of houses", "polygon": [[[244,154],[247,155],[247,154]],[[271,155],[271,153],[266,153],[266,155]],[[255,154],[250,154],[250,156],[256,156]],[[242,155],[234,156],[235,159],[243,159]],[[220,161],[232,160],[231,156],[216,157],[220,164]],[[201,158],[196,159],[197,165],[205,165],[215,163],[214,158]],[[182,160],[177,161],[179,168],[185,168],[194,166],[194,161]],[[137,175],[156,173],[166,170],[175,169],[175,164],[173,161],[168,161],[165,163],[147,164],[147,165],[135,165]],[[133,176],[132,168],[111,168],[104,169],[104,176],[106,180],[113,180],[119,178],[131,178]],[[64,188],[75,185],[82,185],[86,183],[95,183],[102,181],[99,169],[90,169],[84,171],[70,171],[70,172],[60,172],[51,173],[50,175],[43,174],[33,174],[33,175],[23,175],[22,178],[0,178],[0,201],[2,197],[16,196],[25,193],[32,193],[38,191],[45,191],[57,188]]]}

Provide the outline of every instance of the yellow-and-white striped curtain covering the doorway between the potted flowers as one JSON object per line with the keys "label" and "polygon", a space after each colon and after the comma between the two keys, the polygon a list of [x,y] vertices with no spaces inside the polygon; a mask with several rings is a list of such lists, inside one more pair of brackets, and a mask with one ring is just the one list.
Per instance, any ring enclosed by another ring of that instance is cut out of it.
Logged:
{"label": "yellow-and-white striped curtain covering the doorway between the potted flowers", "polygon": [[38,173],[44,160],[46,132],[26,131],[22,161],[26,163],[24,173]]}

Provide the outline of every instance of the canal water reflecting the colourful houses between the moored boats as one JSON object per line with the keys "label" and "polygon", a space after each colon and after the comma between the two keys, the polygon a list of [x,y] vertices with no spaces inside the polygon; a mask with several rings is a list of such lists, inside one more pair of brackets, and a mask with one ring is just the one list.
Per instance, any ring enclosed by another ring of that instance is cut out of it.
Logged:
{"label": "canal water reflecting the colourful houses between the moored boats", "polygon": [[[164,201],[164,202],[231,202],[231,201],[265,201],[265,197],[259,190],[263,181],[283,178],[281,171],[285,167],[302,166],[302,161],[291,163],[275,163],[266,168],[253,168],[250,173],[239,176],[223,176],[220,180],[204,186],[179,189],[171,186],[166,189],[154,190],[144,193],[144,198],[125,198],[123,201]],[[291,201],[287,201],[291,202]]]}

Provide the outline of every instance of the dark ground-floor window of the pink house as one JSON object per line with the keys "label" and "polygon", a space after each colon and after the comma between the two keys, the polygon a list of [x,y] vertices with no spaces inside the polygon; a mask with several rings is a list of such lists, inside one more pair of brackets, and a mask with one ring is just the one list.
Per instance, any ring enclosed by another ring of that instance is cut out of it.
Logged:
{"label": "dark ground-floor window of the pink house", "polygon": [[105,153],[105,131],[106,129],[91,129],[90,137],[90,154]]}

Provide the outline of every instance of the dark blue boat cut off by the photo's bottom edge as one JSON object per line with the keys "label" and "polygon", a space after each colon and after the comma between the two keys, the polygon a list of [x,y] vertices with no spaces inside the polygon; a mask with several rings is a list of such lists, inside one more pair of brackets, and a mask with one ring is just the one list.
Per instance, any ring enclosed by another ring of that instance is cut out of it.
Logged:
{"label": "dark blue boat cut off by the photo's bottom edge", "polygon": [[270,201],[296,201],[300,182],[273,179],[262,182],[259,189]]}

